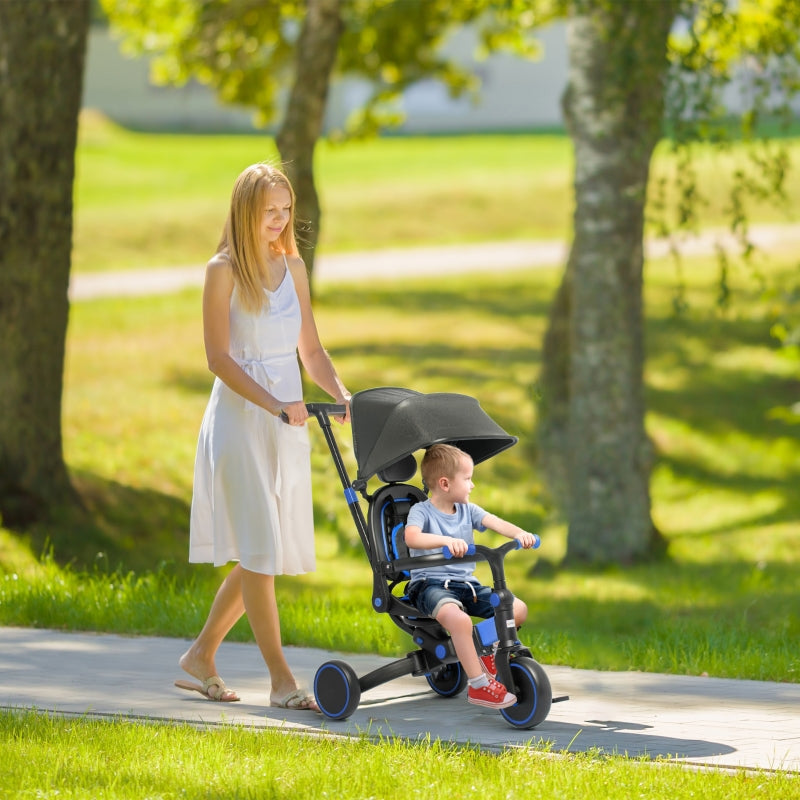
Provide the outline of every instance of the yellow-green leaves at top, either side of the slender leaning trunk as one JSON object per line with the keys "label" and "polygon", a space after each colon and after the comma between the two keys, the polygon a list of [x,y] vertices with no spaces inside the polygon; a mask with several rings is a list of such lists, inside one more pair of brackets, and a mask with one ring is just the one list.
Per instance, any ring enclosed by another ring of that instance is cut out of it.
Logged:
{"label": "yellow-green leaves at top, either side of the slender leaning trunk", "polygon": [[[101,0],[123,47],[153,55],[153,78],[211,86],[229,104],[252,108],[268,125],[280,117],[282,92],[295,76],[301,0]],[[522,4],[490,0],[342,0],[336,74],[366,79],[371,93],[356,109],[351,135],[372,135],[402,119],[397,100],[425,79],[454,96],[475,91],[474,74],[441,53],[459,26],[478,25],[485,51],[533,57],[533,28],[545,18]]]}

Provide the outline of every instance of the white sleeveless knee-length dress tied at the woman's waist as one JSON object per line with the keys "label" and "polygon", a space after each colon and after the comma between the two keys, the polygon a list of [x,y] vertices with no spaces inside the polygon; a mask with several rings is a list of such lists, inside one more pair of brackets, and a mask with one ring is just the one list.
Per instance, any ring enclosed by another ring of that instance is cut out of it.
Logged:
{"label": "white sleeveless knee-length dress tied at the woman's waist", "polygon": [[[284,259],[285,260],[285,259]],[[260,313],[234,289],[230,353],[281,401],[301,400],[300,303],[288,266]],[[252,572],[299,575],[316,566],[306,426],[287,425],[215,379],[194,468],[189,561],[239,561]]]}

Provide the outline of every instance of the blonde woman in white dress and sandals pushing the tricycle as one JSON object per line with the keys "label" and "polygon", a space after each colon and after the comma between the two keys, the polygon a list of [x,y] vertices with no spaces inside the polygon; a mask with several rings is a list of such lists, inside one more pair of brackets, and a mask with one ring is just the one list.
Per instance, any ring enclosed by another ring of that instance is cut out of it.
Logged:
{"label": "blonde woman in white dress and sandals pushing the tricycle", "polygon": [[318,710],[284,657],[275,599],[275,575],[315,568],[298,354],[310,378],[347,406],[346,419],[350,395],[317,333],[294,210],[294,191],[280,170],[248,167],[236,180],[218,252],[206,267],[203,334],[216,378],[195,461],[189,561],[237,563],[179,662],[201,683],[175,685],[211,700],[239,699],[217,675],[215,655],[246,612],[270,674],[270,705]]}

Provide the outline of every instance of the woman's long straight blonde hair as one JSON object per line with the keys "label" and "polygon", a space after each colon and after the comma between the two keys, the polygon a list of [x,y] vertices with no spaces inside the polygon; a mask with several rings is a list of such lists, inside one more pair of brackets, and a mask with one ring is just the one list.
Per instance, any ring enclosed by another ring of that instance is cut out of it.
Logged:
{"label": "woman's long straight blonde hair", "polygon": [[231,205],[217,252],[228,256],[233,268],[242,305],[248,311],[259,311],[264,303],[261,283],[265,254],[261,248],[261,220],[269,193],[276,187],[289,192],[292,208],[289,222],[270,250],[275,254],[299,255],[295,238],[295,194],[286,175],[270,164],[252,164],[233,185]]}

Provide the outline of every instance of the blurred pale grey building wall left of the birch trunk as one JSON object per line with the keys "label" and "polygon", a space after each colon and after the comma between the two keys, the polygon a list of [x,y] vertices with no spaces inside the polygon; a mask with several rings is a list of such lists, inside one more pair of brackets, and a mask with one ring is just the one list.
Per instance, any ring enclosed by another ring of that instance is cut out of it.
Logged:
{"label": "blurred pale grey building wall left of the birch trunk", "polygon": [[[563,24],[543,29],[539,40],[539,61],[508,55],[476,61],[474,31],[458,31],[445,49],[480,76],[478,102],[467,97],[453,99],[441,84],[422,82],[403,96],[401,109],[406,121],[396,130],[409,134],[468,133],[561,126],[560,101],[567,74]],[[180,88],[155,86],[149,72],[148,58],[124,56],[107,29],[94,28],[89,36],[84,107],[140,130],[254,130],[251,111],[222,105],[213,91],[196,82]],[[329,95],[326,127],[342,127],[367,93],[363,81],[336,82]]]}

